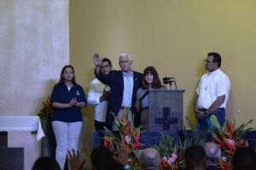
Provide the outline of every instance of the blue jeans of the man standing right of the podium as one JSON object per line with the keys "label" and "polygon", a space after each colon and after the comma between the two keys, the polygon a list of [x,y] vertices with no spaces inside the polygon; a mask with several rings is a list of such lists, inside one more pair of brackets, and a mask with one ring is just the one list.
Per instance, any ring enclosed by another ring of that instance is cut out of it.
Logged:
{"label": "blue jeans of the man standing right of the podium", "polygon": [[211,119],[210,119],[210,116],[212,116],[212,115],[217,117],[218,123],[220,124],[221,127],[224,126],[226,112],[225,112],[224,108],[218,108],[218,110],[213,111],[211,115],[203,117],[202,119],[198,119],[197,129],[202,130],[203,127],[208,127],[208,128],[211,128],[211,129],[215,128],[212,125],[212,122],[211,122]]}

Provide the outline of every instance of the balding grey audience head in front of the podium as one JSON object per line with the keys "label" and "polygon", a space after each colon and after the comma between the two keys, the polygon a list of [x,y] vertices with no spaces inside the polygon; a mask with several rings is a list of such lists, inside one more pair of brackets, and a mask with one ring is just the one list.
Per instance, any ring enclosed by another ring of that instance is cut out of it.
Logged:
{"label": "balding grey audience head in front of the podium", "polygon": [[143,170],[157,170],[160,166],[159,152],[153,148],[142,150],[140,161]]}

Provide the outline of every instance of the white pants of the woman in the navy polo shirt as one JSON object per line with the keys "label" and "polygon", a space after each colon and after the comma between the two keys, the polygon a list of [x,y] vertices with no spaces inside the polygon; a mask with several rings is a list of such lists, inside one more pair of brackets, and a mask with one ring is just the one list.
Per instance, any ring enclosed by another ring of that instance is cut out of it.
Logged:
{"label": "white pants of the woman in the navy polo shirt", "polygon": [[64,169],[67,150],[78,150],[79,136],[83,122],[52,122],[56,139],[55,159],[61,170]]}

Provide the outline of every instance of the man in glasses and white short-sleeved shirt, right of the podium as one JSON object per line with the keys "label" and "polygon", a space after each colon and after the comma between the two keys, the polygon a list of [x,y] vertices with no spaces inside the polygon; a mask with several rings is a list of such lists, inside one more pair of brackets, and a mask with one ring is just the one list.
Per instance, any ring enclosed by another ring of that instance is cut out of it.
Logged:
{"label": "man in glasses and white short-sleeved shirt, right of the podium", "polygon": [[195,116],[198,119],[197,128],[214,128],[210,116],[217,117],[221,127],[225,122],[225,108],[230,94],[230,79],[220,70],[221,56],[218,53],[208,53],[205,60],[207,74],[201,77],[196,89]]}

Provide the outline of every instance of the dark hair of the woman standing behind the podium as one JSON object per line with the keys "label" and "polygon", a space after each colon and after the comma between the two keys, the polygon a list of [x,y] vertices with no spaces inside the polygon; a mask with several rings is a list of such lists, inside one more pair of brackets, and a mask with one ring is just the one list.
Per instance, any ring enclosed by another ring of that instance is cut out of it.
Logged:
{"label": "dark hair of the woman standing behind the podium", "polygon": [[160,78],[158,76],[157,71],[155,70],[154,66],[148,66],[144,69],[143,71],[143,82],[142,82],[142,87],[144,89],[148,88],[148,84],[145,81],[145,76],[148,75],[149,73],[151,73],[153,75],[153,84],[152,84],[152,88],[160,88],[162,86],[161,82],[160,82]]}

